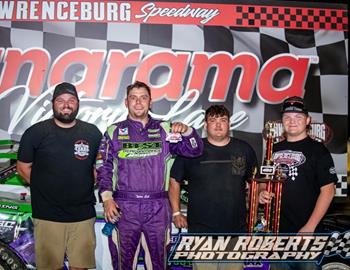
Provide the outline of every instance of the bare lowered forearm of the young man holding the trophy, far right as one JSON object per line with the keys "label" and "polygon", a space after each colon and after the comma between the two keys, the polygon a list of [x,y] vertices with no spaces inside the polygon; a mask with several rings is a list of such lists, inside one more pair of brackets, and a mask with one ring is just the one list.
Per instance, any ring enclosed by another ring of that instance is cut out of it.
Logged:
{"label": "bare lowered forearm of the young man holding the trophy, far right", "polygon": [[318,195],[314,211],[312,211],[309,220],[306,224],[299,230],[299,232],[314,232],[316,226],[321,221],[323,216],[326,214],[329,205],[332,202],[335,193],[335,186],[333,183],[324,185],[320,189],[320,195]]}

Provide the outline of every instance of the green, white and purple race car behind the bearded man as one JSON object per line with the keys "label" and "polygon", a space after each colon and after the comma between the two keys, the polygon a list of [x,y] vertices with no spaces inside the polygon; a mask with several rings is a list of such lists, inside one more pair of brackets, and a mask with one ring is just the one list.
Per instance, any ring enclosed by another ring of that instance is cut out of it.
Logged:
{"label": "green, white and purple race car behind the bearded man", "polygon": [[34,269],[30,191],[16,171],[17,143],[0,141],[0,266]]}

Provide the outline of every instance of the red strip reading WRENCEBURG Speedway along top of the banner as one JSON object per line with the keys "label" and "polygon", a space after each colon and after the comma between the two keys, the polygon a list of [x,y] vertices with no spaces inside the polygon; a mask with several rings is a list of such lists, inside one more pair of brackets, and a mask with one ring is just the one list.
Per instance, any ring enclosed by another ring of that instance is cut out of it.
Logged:
{"label": "red strip reading WRENCEBURG Speedway along top of the banner", "polygon": [[348,30],[345,9],[122,1],[1,1],[0,20]]}

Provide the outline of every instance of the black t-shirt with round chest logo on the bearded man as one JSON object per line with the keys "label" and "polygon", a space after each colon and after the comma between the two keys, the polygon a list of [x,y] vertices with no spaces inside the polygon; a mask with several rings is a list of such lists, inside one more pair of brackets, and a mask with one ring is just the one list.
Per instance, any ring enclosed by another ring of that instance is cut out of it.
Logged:
{"label": "black t-shirt with round chest logo on the bearded man", "polygon": [[101,136],[96,126],[80,120],[61,128],[49,119],[24,132],[18,160],[33,163],[34,218],[76,222],[96,215],[93,165]]}

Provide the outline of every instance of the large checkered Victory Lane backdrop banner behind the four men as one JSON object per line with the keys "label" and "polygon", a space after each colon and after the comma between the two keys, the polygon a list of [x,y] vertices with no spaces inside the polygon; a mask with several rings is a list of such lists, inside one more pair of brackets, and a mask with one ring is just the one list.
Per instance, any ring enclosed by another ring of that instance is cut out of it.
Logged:
{"label": "large checkered Victory Lane backdrop banner behind the four men", "polygon": [[126,86],[141,80],[154,117],[203,135],[204,110],[225,104],[233,136],[262,159],[264,124],[298,95],[346,196],[347,7],[260,2],[1,1],[0,139],[51,117],[61,81],[79,91],[78,117],[104,131],[125,118]]}

